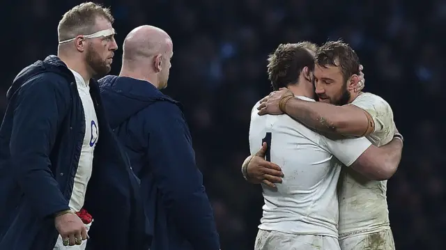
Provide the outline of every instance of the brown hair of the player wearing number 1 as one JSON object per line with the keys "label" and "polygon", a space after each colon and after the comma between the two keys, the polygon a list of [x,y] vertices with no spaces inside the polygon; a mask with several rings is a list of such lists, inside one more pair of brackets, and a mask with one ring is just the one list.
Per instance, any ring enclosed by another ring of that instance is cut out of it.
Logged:
{"label": "brown hair of the player wearing number 1", "polygon": [[303,68],[314,70],[314,56],[309,50],[315,47],[312,42],[281,44],[268,56],[268,79],[275,91],[290,84],[298,84]]}

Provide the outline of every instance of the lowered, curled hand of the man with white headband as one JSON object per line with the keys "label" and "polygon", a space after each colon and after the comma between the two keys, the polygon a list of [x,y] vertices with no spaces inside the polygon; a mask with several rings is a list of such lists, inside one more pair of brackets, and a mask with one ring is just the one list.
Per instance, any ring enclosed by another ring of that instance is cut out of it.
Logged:
{"label": "lowered, curled hand of the man with white headband", "polygon": [[56,214],[54,225],[62,237],[64,246],[74,246],[82,244],[82,240],[87,239],[84,222],[72,212],[62,212]]}

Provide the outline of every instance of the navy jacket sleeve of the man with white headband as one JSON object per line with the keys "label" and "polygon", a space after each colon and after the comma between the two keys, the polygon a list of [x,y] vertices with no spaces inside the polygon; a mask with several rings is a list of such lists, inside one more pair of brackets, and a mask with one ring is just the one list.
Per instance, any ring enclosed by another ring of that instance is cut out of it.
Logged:
{"label": "navy jacket sleeve of the man with white headband", "polygon": [[15,93],[10,157],[24,197],[39,217],[69,209],[49,161],[57,124],[70,100],[62,92],[56,81],[37,77]]}

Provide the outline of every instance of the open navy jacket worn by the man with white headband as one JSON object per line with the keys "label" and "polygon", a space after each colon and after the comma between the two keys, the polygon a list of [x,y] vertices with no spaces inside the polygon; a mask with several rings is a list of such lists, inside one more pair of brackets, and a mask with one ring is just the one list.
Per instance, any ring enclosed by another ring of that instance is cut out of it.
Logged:
{"label": "open navy jacket worn by the man with white headband", "polygon": [[[90,88],[100,138],[84,203],[94,219],[87,249],[146,250],[139,180],[108,126],[98,84],[91,80]],[[48,56],[24,68],[7,97],[0,128],[0,249],[52,250],[54,213],[68,209],[85,134],[75,77]]]}

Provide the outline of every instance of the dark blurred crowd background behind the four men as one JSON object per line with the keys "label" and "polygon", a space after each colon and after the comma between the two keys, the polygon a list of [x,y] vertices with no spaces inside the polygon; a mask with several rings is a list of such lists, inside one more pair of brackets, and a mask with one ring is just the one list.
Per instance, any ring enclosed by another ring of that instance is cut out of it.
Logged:
{"label": "dark blurred crowd background behind the four men", "polygon": [[[61,15],[82,1],[3,3],[0,113],[15,75],[56,54]],[[240,173],[249,154],[252,107],[271,90],[266,57],[279,43],[343,38],[360,56],[365,91],[390,103],[406,139],[399,171],[388,182],[397,249],[445,249],[446,149],[442,70],[446,1],[424,0],[109,0],[116,41],[151,24],[174,41],[169,87],[185,106],[197,163],[213,202],[222,249],[253,249],[261,187]],[[116,52],[112,74],[121,68]],[[443,102],[442,102],[443,101]],[[156,121],[154,121],[156,122]],[[172,150],[175,150],[172,148]]]}

